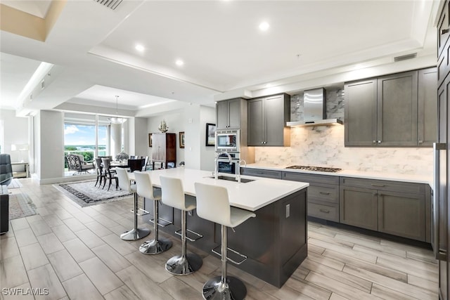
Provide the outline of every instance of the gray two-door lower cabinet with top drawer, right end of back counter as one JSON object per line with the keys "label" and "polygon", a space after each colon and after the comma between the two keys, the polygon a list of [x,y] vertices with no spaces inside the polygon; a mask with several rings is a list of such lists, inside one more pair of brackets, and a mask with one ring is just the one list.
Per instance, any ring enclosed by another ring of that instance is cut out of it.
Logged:
{"label": "gray two-door lower cabinet with top drawer, right end of back counter", "polygon": [[430,242],[425,184],[340,178],[340,223]]}

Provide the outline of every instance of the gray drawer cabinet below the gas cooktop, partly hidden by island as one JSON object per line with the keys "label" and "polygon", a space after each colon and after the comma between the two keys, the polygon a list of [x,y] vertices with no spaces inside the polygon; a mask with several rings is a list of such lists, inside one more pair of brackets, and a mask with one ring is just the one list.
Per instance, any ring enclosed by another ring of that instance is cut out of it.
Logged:
{"label": "gray drawer cabinet below the gas cooktop, partly hidden by island", "polygon": [[308,216],[339,222],[339,176],[283,172],[283,179],[309,183]]}

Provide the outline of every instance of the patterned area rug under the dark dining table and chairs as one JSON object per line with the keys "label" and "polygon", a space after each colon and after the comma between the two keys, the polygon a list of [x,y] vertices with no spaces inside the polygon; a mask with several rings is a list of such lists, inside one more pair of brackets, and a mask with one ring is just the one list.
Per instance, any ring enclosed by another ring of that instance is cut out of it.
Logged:
{"label": "patterned area rug under the dark dining table and chairs", "polygon": [[81,207],[131,197],[131,193],[127,191],[115,190],[113,186],[111,186],[110,190],[107,190],[108,188],[105,186],[103,190],[98,188],[98,185],[94,186],[95,183],[96,181],[78,181],[74,183],[59,183],[53,186]]}

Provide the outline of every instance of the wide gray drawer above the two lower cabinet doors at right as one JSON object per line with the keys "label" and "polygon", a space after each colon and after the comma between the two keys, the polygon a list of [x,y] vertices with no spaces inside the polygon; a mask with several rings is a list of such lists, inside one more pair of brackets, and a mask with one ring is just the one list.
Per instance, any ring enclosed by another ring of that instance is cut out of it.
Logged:
{"label": "wide gray drawer above the two lower cabinet doors at right", "polygon": [[372,179],[340,177],[340,184],[356,188],[371,188],[373,190],[389,190],[392,192],[424,194],[425,185],[421,183],[406,183],[399,181],[378,181]]}

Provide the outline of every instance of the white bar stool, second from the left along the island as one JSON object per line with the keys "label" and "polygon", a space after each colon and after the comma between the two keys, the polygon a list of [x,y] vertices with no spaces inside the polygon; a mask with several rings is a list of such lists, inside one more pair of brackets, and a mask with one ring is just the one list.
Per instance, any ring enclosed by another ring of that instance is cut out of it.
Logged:
{"label": "white bar stool, second from the left along the island", "polygon": [[137,194],[141,197],[153,200],[153,233],[155,237],[141,244],[139,251],[143,254],[159,254],[172,247],[172,241],[164,237],[158,237],[158,201],[161,197],[153,195],[153,185],[150,174],[141,171],[134,171],[137,185]]}

